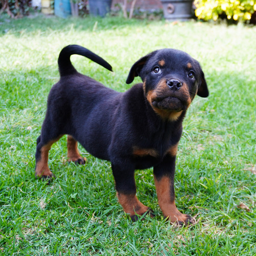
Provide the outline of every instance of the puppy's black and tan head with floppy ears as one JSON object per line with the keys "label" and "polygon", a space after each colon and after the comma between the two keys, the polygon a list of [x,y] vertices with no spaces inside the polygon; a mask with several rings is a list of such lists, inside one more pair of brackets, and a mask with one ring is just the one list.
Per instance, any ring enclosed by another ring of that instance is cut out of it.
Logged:
{"label": "puppy's black and tan head with floppy ears", "polygon": [[209,95],[199,62],[179,50],[157,50],[140,58],[132,66],[126,83],[131,83],[135,76],[141,77],[153,110],[165,119],[178,119],[196,94]]}

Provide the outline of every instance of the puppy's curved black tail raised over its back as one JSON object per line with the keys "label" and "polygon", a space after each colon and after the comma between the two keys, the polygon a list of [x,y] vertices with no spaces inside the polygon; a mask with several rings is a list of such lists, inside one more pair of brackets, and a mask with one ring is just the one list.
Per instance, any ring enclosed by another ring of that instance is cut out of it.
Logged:
{"label": "puppy's curved black tail raised over its back", "polygon": [[112,71],[111,65],[108,62],[106,62],[104,59],[102,59],[100,56],[96,55],[95,53],[91,52],[90,50],[82,46],[69,45],[63,48],[59,53],[58,65],[59,65],[60,76],[66,76],[66,75],[77,73],[76,69],[74,68],[74,66],[70,61],[70,56],[73,54],[78,54],[78,55],[87,57],[92,61],[98,63],[105,69]]}

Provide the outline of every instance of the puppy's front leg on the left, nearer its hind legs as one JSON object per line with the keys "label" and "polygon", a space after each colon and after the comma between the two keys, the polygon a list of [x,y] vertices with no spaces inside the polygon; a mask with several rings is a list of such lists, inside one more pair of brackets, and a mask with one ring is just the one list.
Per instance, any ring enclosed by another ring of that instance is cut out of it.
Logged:
{"label": "puppy's front leg on the left, nearer its hind legs", "polygon": [[136,197],[134,169],[127,167],[126,163],[123,163],[122,166],[112,163],[112,171],[116,182],[118,201],[126,214],[130,214],[133,221],[138,220],[137,215],[142,216],[146,212],[153,217],[152,210],[142,204]]}

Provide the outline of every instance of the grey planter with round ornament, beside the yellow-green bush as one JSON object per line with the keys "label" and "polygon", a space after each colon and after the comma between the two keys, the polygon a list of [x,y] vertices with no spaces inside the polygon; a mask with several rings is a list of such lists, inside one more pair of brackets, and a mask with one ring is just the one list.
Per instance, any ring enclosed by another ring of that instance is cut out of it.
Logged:
{"label": "grey planter with round ornament, beside the yellow-green bush", "polygon": [[188,20],[193,17],[194,0],[161,0],[164,18],[169,20]]}

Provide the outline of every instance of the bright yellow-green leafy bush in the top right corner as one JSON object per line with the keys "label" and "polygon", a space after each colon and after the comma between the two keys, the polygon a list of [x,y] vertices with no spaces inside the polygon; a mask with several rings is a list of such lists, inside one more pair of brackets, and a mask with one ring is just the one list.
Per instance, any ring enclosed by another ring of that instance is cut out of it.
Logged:
{"label": "bright yellow-green leafy bush in the top right corner", "polygon": [[256,11],[255,0],[196,0],[196,16],[204,20],[226,17],[234,21],[251,19]]}

